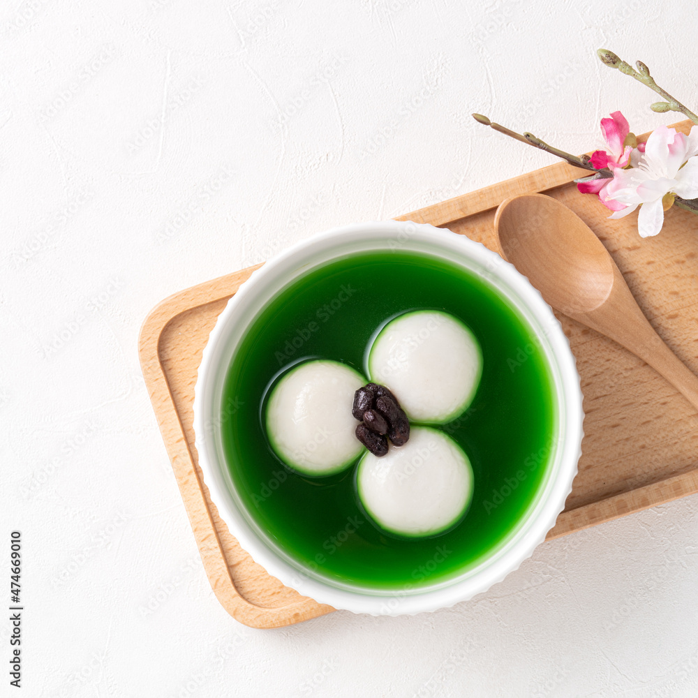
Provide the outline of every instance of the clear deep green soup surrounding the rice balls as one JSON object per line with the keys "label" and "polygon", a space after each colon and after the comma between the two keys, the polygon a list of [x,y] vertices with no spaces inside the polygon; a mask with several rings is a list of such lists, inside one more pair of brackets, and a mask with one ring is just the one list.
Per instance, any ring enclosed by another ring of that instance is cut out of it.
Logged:
{"label": "clear deep green soup surrounding the rice balls", "polygon": [[[287,468],[265,433],[265,401],[305,359],[343,362],[366,376],[378,329],[419,309],[445,311],[470,328],[483,366],[467,410],[434,427],[470,459],[470,507],[445,533],[405,539],[380,530],[362,509],[356,463],[325,477]],[[385,591],[445,581],[503,544],[535,503],[557,428],[553,381],[533,329],[476,274],[403,251],[329,262],[274,297],[232,357],[221,410],[231,405],[239,408],[222,423],[221,437],[248,518],[301,574]]]}

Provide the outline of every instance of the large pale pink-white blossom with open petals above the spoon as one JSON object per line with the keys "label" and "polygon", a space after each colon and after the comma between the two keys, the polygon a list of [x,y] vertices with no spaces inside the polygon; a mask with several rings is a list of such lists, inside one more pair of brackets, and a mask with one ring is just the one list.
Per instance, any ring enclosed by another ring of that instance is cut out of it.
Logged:
{"label": "large pale pink-white blossom with open petals above the spoon", "polygon": [[640,207],[637,230],[641,237],[657,235],[664,224],[664,196],[698,197],[698,126],[690,135],[660,126],[645,144],[637,167],[615,168],[605,186],[607,200],[623,204],[611,218],[623,218]]}

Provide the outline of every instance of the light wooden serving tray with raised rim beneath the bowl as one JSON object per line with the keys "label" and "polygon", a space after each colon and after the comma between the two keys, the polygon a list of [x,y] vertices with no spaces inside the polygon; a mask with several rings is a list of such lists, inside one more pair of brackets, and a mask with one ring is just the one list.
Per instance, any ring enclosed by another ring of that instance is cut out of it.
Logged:
{"label": "light wooden serving tray with raised rim beneath the bowl", "polygon": [[[690,121],[677,125],[684,133]],[[512,147],[514,147],[512,145]],[[662,338],[698,373],[698,218],[667,211],[658,237],[641,239],[637,214],[608,211],[571,183],[566,163],[414,211],[496,249],[494,209],[512,194],[544,191],[595,230]],[[260,265],[258,265],[260,266]],[[218,517],[198,466],[192,401],[202,350],[218,314],[258,267],[181,291],[151,311],[140,334],[143,375],[211,587],[237,621],[278,628],[334,610],[283,586],[253,562]],[[584,392],[579,475],[549,538],[698,491],[698,415],[647,364],[592,329],[556,313],[577,357]]]}

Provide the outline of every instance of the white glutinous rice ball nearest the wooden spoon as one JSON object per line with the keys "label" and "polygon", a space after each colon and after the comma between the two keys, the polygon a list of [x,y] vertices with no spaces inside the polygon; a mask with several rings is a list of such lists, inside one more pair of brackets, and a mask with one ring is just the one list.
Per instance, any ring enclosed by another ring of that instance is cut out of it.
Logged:
{"label": "white glutinous rice ball nearest the wooden spoon", "polygon": [[445,424],[473,401],[482,376],[480,343],[453,315],[414,311],[391,320],[369,350],[369,376],[410,420]]}

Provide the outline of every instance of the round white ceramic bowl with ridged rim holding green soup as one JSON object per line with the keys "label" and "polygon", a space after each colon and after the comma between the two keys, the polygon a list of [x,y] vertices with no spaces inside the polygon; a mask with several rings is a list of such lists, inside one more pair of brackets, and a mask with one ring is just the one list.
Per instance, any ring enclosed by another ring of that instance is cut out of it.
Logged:
{"label": "round white ceramic bowl with ridged rim holding green soup", "polygon": [[[551,466],[528,517],[503,545],[461,576],[397,592],[334,583],[292,560],[247,514],[225,464],[221,441],[221,424],[234,418],[221,415],[225,373],[246,328],[269,299],[301,274],[330,260],[384,249],[445,258],[496,289],[533,328],[551,367],[558,403],[558,433]],[[396,616],[452,606],[487,591],[533,553],[563,510],[577,474],[584,420],[581,399],[579,375],[567,338],[550,307],[525,276],[483,245],[449,230],[387,221],[349,225],[304,240],[267,262],[241,286],[219,316],[203,353],[195,388],[194,429],[199,463],[211,498],[232,535],[255,562],[283,584],[320,603],[355,613]]]}

